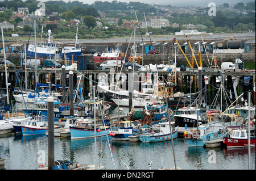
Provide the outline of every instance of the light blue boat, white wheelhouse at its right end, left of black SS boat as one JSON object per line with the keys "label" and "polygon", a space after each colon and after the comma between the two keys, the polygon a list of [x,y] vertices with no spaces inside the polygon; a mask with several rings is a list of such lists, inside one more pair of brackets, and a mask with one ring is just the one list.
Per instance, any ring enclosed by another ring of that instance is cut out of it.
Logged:
{"label": "light blue boat, white wheelhouse at its right end, left of black SS boat", "polygon": [[153,130],[150,133],[143,133],[139,135],[139,140],[141,140],[142,142],[159,142],[159,141],[171,140],[171,137],[172,139],[177,138],[178,127],[175,127],[174,122],[172,122],[171,124],[169,122],[159,123],[159,125],[160,125],[159,131]]}

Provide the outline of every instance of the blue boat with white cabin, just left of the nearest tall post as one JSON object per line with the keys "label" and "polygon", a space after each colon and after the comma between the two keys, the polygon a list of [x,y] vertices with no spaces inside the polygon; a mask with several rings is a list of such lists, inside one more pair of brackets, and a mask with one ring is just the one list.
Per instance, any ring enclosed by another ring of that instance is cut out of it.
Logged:
{"label": "blue boat with white cabin, just left of the nearest tall post", "polygon": [[[48,129],[47,126],[41,127],[38,120],[29,120],[26,121],[24,125],[21,126],[22,135],[32,135],[32,134],[46,134]],[[55,129],[60,128],[60,126],[55,125]]]}

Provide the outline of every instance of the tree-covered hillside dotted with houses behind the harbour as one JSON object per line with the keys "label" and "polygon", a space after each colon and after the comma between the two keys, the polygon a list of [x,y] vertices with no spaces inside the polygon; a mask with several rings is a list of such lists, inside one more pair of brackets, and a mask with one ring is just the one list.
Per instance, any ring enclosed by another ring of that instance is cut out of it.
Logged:
{"label": "tree-covered hillside dotted with houses behind the harbour", "polygon": [[[8,33],[23,32],[28,35],[31,27],[25,25],[23,28],[18,26],[24,18],[16,17],[10,20],[10,17],[18,11],[19,7],[28,7],[29,13],[33,14],[39,9],[39,1],[36,0],[14,0],[2,1],[0,7],[7,9],[0,12],[0,22],[10,22],[14,24],[14,30],[8,30]],[[124,22],[144,21],[144,14],[147,19],[162,18],[168,19],[170,26],[161,28],[152,28],[148,25],[148,31],[153,35],[168,35],[189,28],[198,31],[206,31],[213,33],[232,33],[232,32],[255,32],[255,1],[249,3],[237,3],[230,6],[228,3],[223,3],[217,7],[216,16],[208,15],[208,7],[173,7],[171,5],[148,5],[141,2],[102,2],[96,1],[92,5],[84,4],[79,1],[47,1],[46,16],[41,20],[36,20],[38,31],[42,24],[51,21],[52,23],[44,24],[44,32],[51,29],[55,38],[75,38],[76,25],[71,24],[67,27],[68,22],[77,20],[79,26],[79,38],[106,38],[112,36],[127,36],[133,31],[129,28],[119,28]],[[180,11],[175,12],[176,9]],[[181,11],[183,10],[183,11]],[[192,10],[192,11],[188,11]],[[137,17],[135,16],[135,12]],[[27,15],[24,14],[24,15]],[[177,24],[178,26],[172,26]],[[192,24],[193,27],[188,27]],[[146,33],[146,28],[140,29],[141,33]],[[5,30],[7,32],[7,30]],[[137,31],[139,33],[139,31]]]}

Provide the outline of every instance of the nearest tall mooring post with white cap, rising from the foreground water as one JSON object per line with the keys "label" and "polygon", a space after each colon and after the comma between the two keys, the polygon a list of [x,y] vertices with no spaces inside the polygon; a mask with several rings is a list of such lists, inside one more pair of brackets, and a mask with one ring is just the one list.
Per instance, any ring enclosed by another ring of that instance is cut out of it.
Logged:
{"label": "nearest tall mooring post with white cap, rising from the foreground water", "polygon": [[48,170],[54,170],[54,112],[53,112],[54,98],[49,96],[47,98],[48,109]]}

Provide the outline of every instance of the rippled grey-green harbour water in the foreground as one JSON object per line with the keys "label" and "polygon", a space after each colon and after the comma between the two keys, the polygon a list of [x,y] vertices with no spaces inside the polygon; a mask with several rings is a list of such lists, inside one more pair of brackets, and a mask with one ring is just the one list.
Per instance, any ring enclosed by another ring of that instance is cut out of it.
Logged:
{"label": "rippled grey-green harbour water in the foreground", "polygon": [[[97,163],[105,170],[155,170],[175,166],[172,142],[129,142],[114,141],[111,136],[99,137],[94,149],[94,138],[71,140],[55,137],[55,159],[94,164],[95,151]],[[112,150],[112,154],[110,153]],[[6,134],[0,137],[0,157],[6,158],[6,170],[35,170],[48,160],[47,136],[22,136]],[[174,140],[176,165],[181,170],[247,170],[248,148],[226,149],[193,148],[185,138]],[[113,158],[112,158],[113,155]],[[151,162],[151,167],[148,163]],[[255,146],[251,148],[251,166],[255,170]]]}

